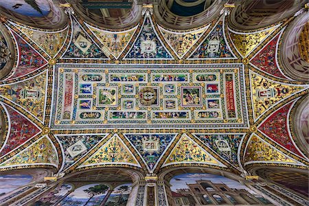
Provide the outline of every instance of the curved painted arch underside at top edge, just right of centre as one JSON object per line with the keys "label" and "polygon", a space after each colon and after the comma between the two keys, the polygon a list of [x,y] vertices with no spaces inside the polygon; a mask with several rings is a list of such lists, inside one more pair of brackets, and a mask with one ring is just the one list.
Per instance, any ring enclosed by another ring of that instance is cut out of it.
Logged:
{"label": "curved painted arch underside at top edge, just right of centre", "polygon": [[[183,2],[181,0],[175,1]],[[222,8],[223,5],[220,4],[218,0],[209,1],[209,6],[205,8],[203,12],[192,16],[180,16],[179,14],[174,14],[174,12],[170,10],[167,1],[161,1],[158,5],[154,5],[154,14],[158,23],[165,27],[175,30],[181,27],[183,30],[188,30],[195,27],[200,27],[202,25],[207,25],[207,23],[213,21],[216,16],[220,15]]]}

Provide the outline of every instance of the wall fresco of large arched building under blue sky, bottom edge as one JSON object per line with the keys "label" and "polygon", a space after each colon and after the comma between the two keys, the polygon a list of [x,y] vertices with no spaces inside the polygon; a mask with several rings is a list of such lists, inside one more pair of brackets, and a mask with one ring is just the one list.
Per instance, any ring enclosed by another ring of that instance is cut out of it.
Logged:
{"label": "wall fresco of large arched building under blue sky, bottom edge", "polygon": [[259,194],[225,176],[187,173],[170,180],[174,205],[269,205]]}

